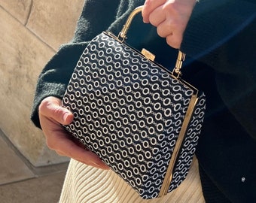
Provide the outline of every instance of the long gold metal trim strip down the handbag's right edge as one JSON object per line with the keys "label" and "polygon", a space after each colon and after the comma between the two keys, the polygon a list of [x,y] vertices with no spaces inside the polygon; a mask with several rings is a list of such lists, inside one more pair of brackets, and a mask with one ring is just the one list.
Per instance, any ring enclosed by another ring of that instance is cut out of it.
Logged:
{"label": "long gold metal trim strip down the handbag's right edge", "polygon": [[181,150],[181,144],[184,140],[185,133],[187,131],[187,126],[190,122],[190,118],[192,117],[194,107],[197,104],[197,100],[198,100],[197,94],[192,95],[192,97],[190,99],[190,103],[187,108],[187,113],[185,114],[184,121],[181,126],[181,131],[179,132],[179,135],[178,135],[178,138],[177,138],[177,141],[176,141],[173,153],[172,153],[172,157],[169,161],[169,166],[167,168],[166,175],[163,179],[163,184],[161,186],[158,198],[167,194],[169,185],[172,182],[172,173],[173,173],[173,169],[175,167],[175,162],[178,158],[178,153]]}

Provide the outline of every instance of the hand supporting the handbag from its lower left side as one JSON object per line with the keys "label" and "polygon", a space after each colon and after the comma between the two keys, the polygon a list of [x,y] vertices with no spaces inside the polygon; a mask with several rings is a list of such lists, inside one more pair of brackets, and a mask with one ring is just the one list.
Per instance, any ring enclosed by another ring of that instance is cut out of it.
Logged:
{"label": "hand supporting the handbag from its lower left side", "polygon": [[55,150],[61,156],[69,156],[79,162],[92,165],[96,168],[108,169],[99,157],[84,148],[79,141],[75,141],[72,135],[62,127],[73,120],[73,114],[61,107],[61,100],[55,97],[47,97],[38,108],[41,129],[44,132],[47,146]]}

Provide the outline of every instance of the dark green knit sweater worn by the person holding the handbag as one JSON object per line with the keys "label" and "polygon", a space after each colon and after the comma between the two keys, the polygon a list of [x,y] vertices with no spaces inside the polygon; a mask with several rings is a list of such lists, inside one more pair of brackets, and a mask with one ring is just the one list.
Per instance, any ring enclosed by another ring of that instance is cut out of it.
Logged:
{"label": "dark green knit sweater worn by the person holding the handbag", "polygon": [[[88,42],[100,32],[120,31],[143,0],[87,0],[75,36],[60,47],[38,78],[32,121],[40,127],[38,105],[62,98]],[[67,14],[68,15],[68,14]],[[127,43],[157,55],[172,68],[177,54],[156,29],[134,20]],[[184,80],[206,92],[207,111],[197,158],[206,202],[256,202],[256,2],[200,0],[184,32]]]}

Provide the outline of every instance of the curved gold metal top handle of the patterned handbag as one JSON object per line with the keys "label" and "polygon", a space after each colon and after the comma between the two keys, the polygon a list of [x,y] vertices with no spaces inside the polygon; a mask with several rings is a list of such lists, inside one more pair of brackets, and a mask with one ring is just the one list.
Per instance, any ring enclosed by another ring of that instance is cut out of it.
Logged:
{"label": "curved gold metal top handle of the patterned handbag", "polygon": [[[126,39],[126,35],[128,32],[128,29],[130,28],[130,25],[133,21],[133,18],[136,16],[136,14],[139,14],[142,12],[143,6],[139,6],[135,8],[132,13],[129,15],[129,17],[126,20],[126,23],[123,25],[123,29],[119,32],[119,35],[117,36],[118,40],[124,41]],[[184,62],[186,54],[181,52],[181,50],[178,50],[178,58],[175,64],[175,68],[173,68],[172,75],[174,77],[180,77],[181,76],[181,67],[182,63]]]}

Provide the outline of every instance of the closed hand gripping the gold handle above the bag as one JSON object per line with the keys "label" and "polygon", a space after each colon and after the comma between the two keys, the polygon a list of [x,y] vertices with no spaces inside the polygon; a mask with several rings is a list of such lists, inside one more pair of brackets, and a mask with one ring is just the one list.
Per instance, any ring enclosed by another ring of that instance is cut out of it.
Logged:
{"label": "closed hand gripping the gold handle above the bag", "polygon": [[197,0],[146,0],[142,8],[145,23],[157,27],[157,34],[167,44],[180,48],[183,32]]}

